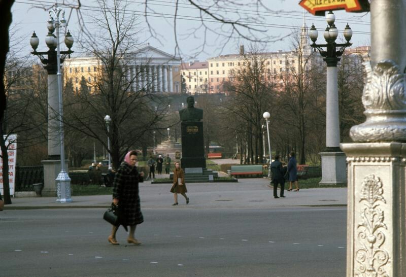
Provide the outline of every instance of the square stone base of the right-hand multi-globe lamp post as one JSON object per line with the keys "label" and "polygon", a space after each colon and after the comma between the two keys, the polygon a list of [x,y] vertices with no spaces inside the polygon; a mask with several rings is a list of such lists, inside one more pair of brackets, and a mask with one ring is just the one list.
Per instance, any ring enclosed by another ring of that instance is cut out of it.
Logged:
{"label": "square stone base of the right-hand multi-globe lamp post", "polygon": [[321,152],[321,181],[319,185],[347,185],[346,155],[344,152]]}

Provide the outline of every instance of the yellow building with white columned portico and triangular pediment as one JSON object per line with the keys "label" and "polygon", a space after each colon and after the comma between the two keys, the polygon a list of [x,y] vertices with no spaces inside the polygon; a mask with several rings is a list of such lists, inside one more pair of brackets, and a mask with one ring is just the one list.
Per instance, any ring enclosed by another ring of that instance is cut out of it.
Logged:
{"label": "yellow building with white columned portico and triangular pediment", "polygon": [[[146,90],[154,93],[180,93],[182,59],[147,45],[125,56],[127,80],[131,90]],[[94,56],[85,55],[65,61],[65,82],[72,81],[74,91],[80,89],[82,77],[90,90],[97,82],[102,63]]]}

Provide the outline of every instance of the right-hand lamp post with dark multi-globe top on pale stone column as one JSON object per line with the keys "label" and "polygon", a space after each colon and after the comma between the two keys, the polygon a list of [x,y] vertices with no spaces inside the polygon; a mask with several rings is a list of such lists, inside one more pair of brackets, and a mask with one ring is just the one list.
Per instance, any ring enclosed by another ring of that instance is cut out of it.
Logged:
{"label": "right-hand lamp post with dark multi-globe top on pale stone column", "polygon": [[[318,50],[327,64],[327,92],[326,92],[326,149],[321,155],[322,179],[320,184],[347,184],[346,156],[340,149],[340,120],[339,120],[339,92],[337,85],[337,63],[345,48],[351,46],[352,30],[350,26],[344,29],[346,43],[335,43],[339,31],[335,27],[335,16],[330,11],[326,15],[327,28],[324,31],[326,44],[316,44],[318,31],[312,25],[309,37],[314,51]],[[325,50],[324,50],[325,48]]]}

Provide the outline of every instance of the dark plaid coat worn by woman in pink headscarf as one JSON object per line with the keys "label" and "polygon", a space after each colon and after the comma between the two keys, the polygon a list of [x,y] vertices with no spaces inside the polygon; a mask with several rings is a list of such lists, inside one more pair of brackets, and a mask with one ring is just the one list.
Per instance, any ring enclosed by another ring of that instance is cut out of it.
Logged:
{"label": "dark plaid coat worn by woman in pink headscarf", "polygon": [[120,224],[136,225],[144,222],[140,207],[138,183],[143,182],[137,167],[122,162],[114,178],[113,198],[118,199]]}

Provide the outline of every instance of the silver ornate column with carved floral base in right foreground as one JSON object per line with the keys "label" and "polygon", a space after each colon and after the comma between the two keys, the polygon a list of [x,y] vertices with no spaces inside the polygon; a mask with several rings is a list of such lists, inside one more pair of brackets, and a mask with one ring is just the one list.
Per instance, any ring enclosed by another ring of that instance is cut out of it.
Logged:
{"label": "silver ornate column with carved floral base in right foreground", "polygon": [[406,19],[403,0],[374,0],[366,121],[342,144],[348,161],[347,276],[406,276]]}

